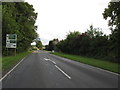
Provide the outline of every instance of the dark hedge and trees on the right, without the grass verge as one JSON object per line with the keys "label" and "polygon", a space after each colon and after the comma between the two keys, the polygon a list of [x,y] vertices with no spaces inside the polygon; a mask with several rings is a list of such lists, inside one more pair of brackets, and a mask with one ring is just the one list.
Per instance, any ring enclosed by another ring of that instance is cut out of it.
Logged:
{"label": "dark hedge and trees on the right, without the grass verge", "polygon": [[[105,35],[100,28],[90,25],[84,33],[69,32],[66,39],[56,44],[57,51],[120,62],[120,1],[110,2],[103,17],[108,20],[111,34]],[[47,47],[54,47],[52,42]]]}

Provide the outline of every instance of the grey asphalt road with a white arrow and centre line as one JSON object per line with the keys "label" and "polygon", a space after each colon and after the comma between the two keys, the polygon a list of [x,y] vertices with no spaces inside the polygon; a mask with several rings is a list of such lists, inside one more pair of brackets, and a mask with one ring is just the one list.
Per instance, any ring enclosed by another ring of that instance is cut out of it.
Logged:
{"label": "grey asphalt road with a white arrow and centre line", "polygon": [[3,88],[118,88],[118,75],[38,51],[26,57],[2,83]]}

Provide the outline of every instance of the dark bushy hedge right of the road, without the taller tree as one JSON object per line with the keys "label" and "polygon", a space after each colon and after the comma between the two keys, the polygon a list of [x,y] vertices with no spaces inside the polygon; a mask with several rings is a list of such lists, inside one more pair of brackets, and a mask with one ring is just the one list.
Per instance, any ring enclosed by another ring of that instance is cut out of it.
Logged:
{"label": "dark bushy hedge right of the road, without the taller tree", "polygon": [[111,40],[109,36],[103,34],[99,28],[94,28],[90,25],[89,30],[85,33],[70,32],[66,39],[61,40],[57,47],[61,52],[88,56],[94,58],[102,58],[116,62],[110,52]]}

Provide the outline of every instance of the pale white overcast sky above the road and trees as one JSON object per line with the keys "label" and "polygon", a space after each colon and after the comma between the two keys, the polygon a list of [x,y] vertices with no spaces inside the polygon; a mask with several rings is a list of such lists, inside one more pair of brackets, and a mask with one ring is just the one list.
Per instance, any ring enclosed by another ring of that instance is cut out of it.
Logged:
{"label": "pale white overcast sky above the road and trees", "polygon": [[110,0],[25,0],[33,5],[38,13],[36,25],[43,45],[50,40],[65,39],[69,31],[81,33],[89,29],[102,28],[105,34],[110,34],[108,21],[102,13]]}

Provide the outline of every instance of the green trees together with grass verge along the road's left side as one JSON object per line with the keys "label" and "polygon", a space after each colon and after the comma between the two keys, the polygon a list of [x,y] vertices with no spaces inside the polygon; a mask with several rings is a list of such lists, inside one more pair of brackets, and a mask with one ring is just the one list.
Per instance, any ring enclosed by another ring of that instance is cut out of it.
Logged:
{"label": "green trees together with grass verge along the road's left side", "polygon": [[[34,49],[41,49],[42,43],[35,25],[37,13],[27,2],[2,3],[2,70],[7,72]],[[6,48],[6,34],[17,35],[16,56],[14,48]],[[36,46],[31,46],[36,42]],[[36,48],[35,48],[36,47]]]}

